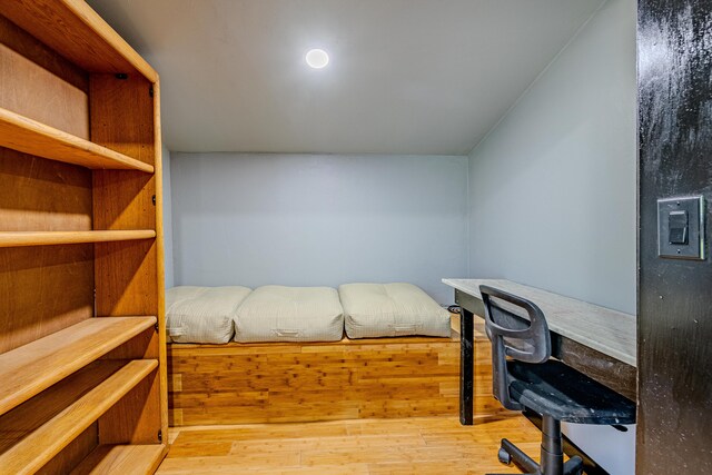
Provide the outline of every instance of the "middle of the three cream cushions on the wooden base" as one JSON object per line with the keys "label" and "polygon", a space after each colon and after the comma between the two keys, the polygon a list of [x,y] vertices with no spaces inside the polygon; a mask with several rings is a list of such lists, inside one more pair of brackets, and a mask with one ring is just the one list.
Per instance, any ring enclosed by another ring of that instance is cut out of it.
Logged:
{"label": "middle of the three cream cushions on the wooden base", "polygon": [[337,342],[344,309],[329,287],[256,288],[235,314],[235,342]]}

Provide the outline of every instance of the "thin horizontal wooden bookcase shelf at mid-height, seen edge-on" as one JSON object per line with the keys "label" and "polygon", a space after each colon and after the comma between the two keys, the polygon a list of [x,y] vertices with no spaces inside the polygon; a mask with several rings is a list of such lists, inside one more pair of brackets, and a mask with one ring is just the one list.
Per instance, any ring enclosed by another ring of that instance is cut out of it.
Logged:
{"label": "thin horizontal wooden bookcase shelf at mid-height, seen edge-on", "polygon": [[98,231],[0,231],[0,247],[51,246],[152,239],[152,229]]}

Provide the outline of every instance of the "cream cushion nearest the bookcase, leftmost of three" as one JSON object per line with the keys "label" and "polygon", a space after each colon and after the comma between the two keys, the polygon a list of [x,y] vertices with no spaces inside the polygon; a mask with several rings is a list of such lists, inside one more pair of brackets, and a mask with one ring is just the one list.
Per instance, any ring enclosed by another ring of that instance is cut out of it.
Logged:
{"label": "cream cushion nearest the bookcase, leftmost of three", "polygon": [[247,287],[174,287],[166,291],[166,328],[175,343],[228,343]]}

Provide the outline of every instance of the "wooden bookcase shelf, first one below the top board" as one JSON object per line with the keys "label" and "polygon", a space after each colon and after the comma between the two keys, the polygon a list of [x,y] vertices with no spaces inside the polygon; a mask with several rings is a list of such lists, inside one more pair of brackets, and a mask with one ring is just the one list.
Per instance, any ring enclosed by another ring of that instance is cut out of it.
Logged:
{"label": "wooden bookcase shelf, first one below the top board", "polygon": [[154,172],[151,165],[0,108],[0,146],[91,169]]}

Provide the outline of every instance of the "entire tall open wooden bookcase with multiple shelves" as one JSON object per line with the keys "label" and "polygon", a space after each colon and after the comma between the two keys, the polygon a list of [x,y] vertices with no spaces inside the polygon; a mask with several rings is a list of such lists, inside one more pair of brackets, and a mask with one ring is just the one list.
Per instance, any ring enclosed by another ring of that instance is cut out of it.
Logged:
{"label": "entire tall open wooden bookcase with multiple shelves", "polygon": [[0,2],[0,475],[167,453],[158,75],[83,0]]}

